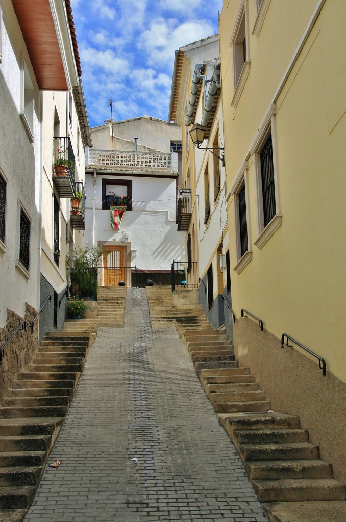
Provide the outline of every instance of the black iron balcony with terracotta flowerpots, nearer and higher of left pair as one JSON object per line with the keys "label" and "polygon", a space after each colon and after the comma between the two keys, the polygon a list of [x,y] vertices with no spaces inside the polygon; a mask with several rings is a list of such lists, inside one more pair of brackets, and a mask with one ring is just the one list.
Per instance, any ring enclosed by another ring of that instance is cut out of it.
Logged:
{"label": "black iron balcony with terracotta flowerpots, nearer and higher of left pair", "polygon": [[69,137],[53,137],[53,184],[60,198],[73,198],[75,195],[75,156]]}

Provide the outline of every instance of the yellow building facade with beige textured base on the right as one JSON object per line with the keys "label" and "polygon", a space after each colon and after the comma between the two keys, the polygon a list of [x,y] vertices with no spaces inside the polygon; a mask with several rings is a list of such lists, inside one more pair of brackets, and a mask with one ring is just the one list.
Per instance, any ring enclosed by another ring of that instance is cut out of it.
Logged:
{"label": "yellow building facade with beige textured base on the right", "polygon": [[236,354],[341,481],[345,19],[332,0],[230,0],[220,19]]}

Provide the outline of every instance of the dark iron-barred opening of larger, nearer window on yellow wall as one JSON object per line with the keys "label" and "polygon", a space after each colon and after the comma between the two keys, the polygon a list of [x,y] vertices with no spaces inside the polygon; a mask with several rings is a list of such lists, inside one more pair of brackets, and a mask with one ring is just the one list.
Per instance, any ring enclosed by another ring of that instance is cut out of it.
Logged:
{"label": "dark iron-barred opening of larger, nearer window on yellow wall", "polygon": [[276,213],[273,145],[271,135],[261,150],[261,177],[264,227],[267,227],[267,224],[273,219]]}

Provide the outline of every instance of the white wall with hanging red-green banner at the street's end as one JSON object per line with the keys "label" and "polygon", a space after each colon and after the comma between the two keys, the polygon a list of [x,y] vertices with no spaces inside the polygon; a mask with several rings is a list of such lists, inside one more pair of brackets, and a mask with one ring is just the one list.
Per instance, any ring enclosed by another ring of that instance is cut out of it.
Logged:
{"label": "white wall with hanging red-green banner at the street's end", "polygon": [[[86,230],[85,241],[93,240],[94,178],[86,175]],[[132,180],[133,209],[126,210],[121,230],[113,230],[110,211],[101,209],[102,179]],[[112,241],[114,244],[130,243],[131,265],[145,270],[169,270],[172,259],[184,259],[182,234],[177,232],[176,180],[97,175],[95,199],[94,244]],[[129,238],[125,238],[125,233]],[[134,252],[136,251],[136,252]]]}

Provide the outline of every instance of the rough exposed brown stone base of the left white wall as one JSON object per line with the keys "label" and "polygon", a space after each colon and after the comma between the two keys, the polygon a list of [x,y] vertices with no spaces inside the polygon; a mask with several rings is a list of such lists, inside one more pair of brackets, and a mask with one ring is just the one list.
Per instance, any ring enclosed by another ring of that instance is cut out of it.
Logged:
{"label": "rough exposed brown stone base of the left white wall", "polygon": [[20,317],[7,309],[6,328],[0,328],[0,346],[4,345],[23,319],[27,326],[25,330],[17,332],[3,352],[3,361],[0,365],[0,397],[3,397],[17,373],[31,362],[34,353],[37,352],[38,322],[34,323],[33,332],[30,326],[36,313],[28,303],[25,304],[25,317]]}

